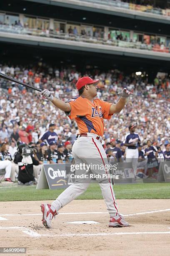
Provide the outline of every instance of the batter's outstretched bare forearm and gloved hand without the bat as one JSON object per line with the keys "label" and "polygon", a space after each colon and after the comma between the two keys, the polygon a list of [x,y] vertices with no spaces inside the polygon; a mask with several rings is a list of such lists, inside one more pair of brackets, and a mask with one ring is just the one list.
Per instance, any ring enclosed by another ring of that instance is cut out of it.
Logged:
{"label": "batter's outstretched bare forearm and gloved hand without the bat", "polygon": [[121,97],[116,104],[112,104],[110,106],[109,114],[119,113],[125,107],[126,99],[130,95],[133,95],[133,92],[129,92],[126,88],[124,88],[122,92],[118,92],[118,95]]}

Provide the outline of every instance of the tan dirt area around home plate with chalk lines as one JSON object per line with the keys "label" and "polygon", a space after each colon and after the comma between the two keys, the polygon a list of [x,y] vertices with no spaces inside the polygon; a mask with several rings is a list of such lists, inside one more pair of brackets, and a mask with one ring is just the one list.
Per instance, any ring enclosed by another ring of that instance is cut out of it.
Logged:
{"label": "tan dirt area around home plate with chalk lines", "polygon": [[[60,210],[50,230],[41,223],[41,201],[0,202],[0,247],[27,247],[26,255],[43,256],[169,256],[170,200],[117,202],[130,227],[109,228],[103,200],[71,202]],[[67,223],[85,220],[98,223]]]}

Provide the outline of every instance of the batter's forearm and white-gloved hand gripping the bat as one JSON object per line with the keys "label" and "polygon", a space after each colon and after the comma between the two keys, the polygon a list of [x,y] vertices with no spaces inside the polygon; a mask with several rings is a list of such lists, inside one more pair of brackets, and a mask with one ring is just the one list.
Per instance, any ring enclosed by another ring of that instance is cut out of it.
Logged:
{"label": "batter's forearm and white-gloved hand gripping the bat", "polygon": [[60,110],[70,112],[71,111],[71,106],[70,103],[64,102],[63,100],[59,100],[55,97],[52,96],[51,92],[48,91],[47,89],[43,90],[40,92],[42,96],[44,96],[47,100],[50,100],[55,107],[60,108]]}

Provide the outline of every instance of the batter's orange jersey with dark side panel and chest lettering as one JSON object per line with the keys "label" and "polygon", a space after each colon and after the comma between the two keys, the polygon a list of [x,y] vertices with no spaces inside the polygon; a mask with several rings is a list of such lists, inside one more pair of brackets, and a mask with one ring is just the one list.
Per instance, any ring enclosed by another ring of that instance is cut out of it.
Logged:
{"label": "batter's orange jersey with dark side panel and chest lettering", "polygon": [[80,133],[95,133],[103,136],[103,119],[111,118],[112,114],[110,115],[109,111],[112,103],[99,99],[94,99],[91,102],[81,96],[68,102],[71,105],[71,111],[66,114],[71,120],[75,118]]}

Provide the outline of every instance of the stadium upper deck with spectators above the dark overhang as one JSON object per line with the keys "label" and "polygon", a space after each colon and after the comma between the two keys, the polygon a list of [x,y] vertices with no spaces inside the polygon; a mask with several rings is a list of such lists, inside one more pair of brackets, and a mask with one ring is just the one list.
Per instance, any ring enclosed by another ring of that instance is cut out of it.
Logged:
{"label": "stadium upper deck with spectators above the dark overhang", "polygon": [[[156,23],[102,11],[96,15],[92,9],[83,9],[84,1],[78,0],[41,2],[2,1],[0,41],[166,61],[170,58],[169,25],[159,20]],[[66,2],[77,7],[62,6]]]}

